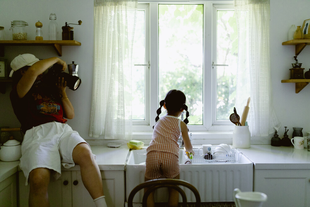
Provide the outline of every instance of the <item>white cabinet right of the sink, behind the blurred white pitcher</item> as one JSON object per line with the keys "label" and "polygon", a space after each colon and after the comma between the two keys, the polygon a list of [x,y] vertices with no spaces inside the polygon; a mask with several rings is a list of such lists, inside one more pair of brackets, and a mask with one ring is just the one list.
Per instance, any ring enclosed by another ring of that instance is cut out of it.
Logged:
{"label": "white cabinet right of the sink, behind the blurred white pitcher", "polygon": [[255,169],[254,191],[268,196],[264,206],[310,206],[310,170]]}

